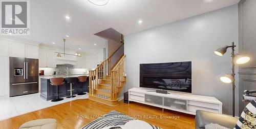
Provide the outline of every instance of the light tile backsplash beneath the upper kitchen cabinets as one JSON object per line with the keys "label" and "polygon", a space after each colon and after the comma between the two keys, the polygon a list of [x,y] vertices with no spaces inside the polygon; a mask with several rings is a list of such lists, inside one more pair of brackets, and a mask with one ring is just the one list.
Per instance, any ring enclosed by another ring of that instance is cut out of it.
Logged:
{"label": "light tile backsplash beneath the upper kitchen cabinets", "polygon": [[66,65],[57,65],[56,68],[39,68],[39,70],[44,70],[45,75],[53,75],[53,71],[56,71],[56,75],[66,75],[67,68],[69,68],[69,74],[86,74],[87,69],[78,69],[73,68],[73,66],[66,66]]}

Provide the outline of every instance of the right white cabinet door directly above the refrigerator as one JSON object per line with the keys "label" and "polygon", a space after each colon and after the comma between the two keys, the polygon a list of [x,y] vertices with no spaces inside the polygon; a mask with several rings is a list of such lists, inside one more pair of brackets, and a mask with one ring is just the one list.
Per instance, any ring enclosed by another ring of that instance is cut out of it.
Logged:
{"label": "right white cabinet door directly above the refrigerator", "polygon": [[26,58],[38,59],[38,46],[26,44]]}

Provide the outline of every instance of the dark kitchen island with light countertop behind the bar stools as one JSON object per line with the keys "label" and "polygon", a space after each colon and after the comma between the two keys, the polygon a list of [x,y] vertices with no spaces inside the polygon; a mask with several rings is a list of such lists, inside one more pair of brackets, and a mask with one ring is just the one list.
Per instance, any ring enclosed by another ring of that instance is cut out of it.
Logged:
{"label": "dark kitchen island with light countertop behind the bar stools", "polygon": [[[56,86],[51,85],[50,78],[54,77],[78,77],[78,76],[88,76],[88,75],[54,75],[54,76],[40,76],[40,97],[45,100],[52,100],[56,97]],[[80,88],[82,87],[82,92],[88,92],[89,89],[89,77],[87,77],[86,82],[79,82],[78,80],[73,84],[72,94],[80,93]],[[66,97],[70,95],[70,83],[65,83],[63,85],[58,86],[59,97]]]}

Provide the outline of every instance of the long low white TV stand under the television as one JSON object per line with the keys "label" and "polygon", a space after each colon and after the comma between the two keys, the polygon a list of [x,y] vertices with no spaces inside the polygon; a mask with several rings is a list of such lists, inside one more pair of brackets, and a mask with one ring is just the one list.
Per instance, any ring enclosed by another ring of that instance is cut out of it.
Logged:
{"label": "long low white TV stand under the television", "polygon": [[130,89],[129,103],[134,101],[192,115],[196,115],[197,110],[222,114],[222,102],[215,97],[176,92],[160,94],[152,91],[155,90],[143,88]]}

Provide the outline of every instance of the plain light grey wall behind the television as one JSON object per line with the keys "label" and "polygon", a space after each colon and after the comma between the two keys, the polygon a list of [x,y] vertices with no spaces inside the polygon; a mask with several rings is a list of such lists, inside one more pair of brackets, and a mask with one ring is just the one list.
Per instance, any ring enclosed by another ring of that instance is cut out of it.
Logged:
{"label": "plain light grey wall behind the television", "polygon": [[231,72],[231,50],[223,57],[213,51],[232,41],[238,45],[237,5],[126,35],[124,90],[139,87],[140,63],[192,61],[193,94],[216,97],[223,103],[223,113],[231,114],[231,84],[219,80]]}

